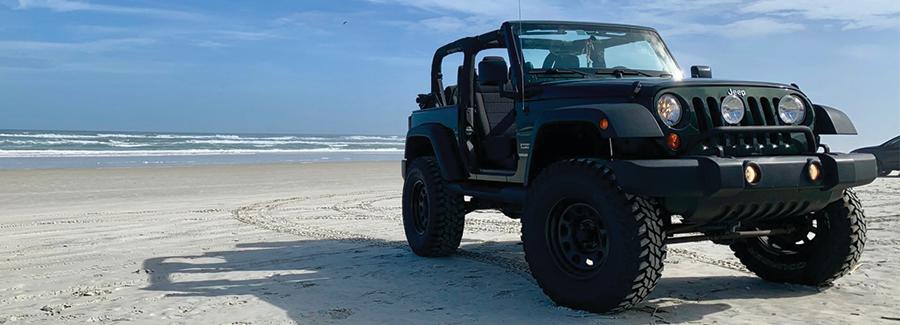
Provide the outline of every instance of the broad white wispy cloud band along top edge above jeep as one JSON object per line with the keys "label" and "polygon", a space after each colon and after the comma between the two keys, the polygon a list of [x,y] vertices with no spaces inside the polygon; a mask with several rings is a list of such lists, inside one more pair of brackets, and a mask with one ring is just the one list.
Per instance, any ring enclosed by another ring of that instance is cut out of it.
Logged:
{"label": "broad white wispy cloud band along top edge above jeep", "polygon": [[[422,10],[432,17],[408,21],[416,28],[458,32],[476,27],[496,27],[516,19],[515,1],[368,0]],[[897,0],[647,0],[617,1],[522,1],[526,19],[605,20],[657,27],[670,35],[707,34],[752,37],[797,32],[821,21],[833,21],[843,29],[900,29]]]}

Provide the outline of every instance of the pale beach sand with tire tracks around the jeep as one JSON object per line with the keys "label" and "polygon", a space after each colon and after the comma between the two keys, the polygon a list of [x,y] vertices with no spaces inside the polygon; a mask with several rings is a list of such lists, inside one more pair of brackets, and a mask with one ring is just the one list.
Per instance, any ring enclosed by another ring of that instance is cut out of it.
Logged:
{"label": "pale beach sand with tire tracks around the jeep", "polygon": [[650,299],[612,316],[547,299],[496,212],[467,216],[456,256],[413,255],[400,187],[383,162],[0,172],[0,324],[900,324],[900,178],[858,189],[866,252],[831,289],[670,245]]}

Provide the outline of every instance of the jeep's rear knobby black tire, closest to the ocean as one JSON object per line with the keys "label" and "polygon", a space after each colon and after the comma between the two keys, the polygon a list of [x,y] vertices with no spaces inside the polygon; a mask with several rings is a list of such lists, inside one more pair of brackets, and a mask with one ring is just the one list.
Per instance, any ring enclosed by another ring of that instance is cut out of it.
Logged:
{"label": "jeep's rear knobby black tire, closest to the ocean", "polygon": [[428,257],[453,254],[464,223],[463,196],[447,189],[434,158],[413,160],[403,184],[403,228],[412,251]]}

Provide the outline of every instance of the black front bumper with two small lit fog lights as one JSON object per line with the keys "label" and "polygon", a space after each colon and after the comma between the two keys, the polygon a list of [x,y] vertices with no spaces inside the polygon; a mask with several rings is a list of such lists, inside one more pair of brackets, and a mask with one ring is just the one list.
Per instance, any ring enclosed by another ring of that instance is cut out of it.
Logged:
{"label": "black front bumper with two small lit fog lights", "polygon": [[[822,166],[818,181],[807,176],[811,163]],[[877,176],[875,156],[870,154],[700,156],[608,164],[626,192],[659,198],[670,212],[705,222],[805,214],[839,199],[844,189],[871,183]],[[758,183],[744,179],[747,164],[758,166]]]}

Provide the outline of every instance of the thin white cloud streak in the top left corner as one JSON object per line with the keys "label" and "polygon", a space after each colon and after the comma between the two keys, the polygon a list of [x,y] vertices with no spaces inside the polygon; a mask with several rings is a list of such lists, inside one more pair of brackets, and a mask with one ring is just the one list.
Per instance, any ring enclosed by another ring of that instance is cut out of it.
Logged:
{"label": "thin white cloud streak in the top left corner", "polygon": [[204,18],[203,15],[182,10],[107,5],[72,0],[18,0],[18,4],[14,8],[19,10],[47,9],[56,12],[87,11],[172,20],[200,20]]}

